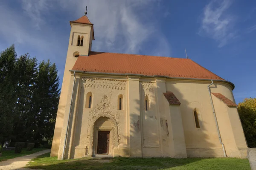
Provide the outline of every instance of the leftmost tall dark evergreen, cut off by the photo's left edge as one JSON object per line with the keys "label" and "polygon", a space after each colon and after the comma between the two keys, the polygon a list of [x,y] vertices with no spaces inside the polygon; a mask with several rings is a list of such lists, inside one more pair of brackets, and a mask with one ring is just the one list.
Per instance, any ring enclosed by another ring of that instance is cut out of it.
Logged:
{"label": "leftmost tall dark evergreen, cut off by the photo's left edge", "polygon": [[0,53],[0,142],[12,137],[17,85],[16,59],[14,45]]}

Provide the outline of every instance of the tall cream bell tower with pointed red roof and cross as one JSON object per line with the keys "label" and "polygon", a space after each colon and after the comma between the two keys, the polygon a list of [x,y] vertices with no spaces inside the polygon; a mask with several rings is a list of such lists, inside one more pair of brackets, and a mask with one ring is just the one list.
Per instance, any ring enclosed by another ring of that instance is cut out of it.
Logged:
{"label": "tall cream bell tower with pointed red roof and cross", "polygon": [[73,75],[71,75],[70,70],[75,65],[78,57],[87,57],[89,55],[92,48],[92,42],[94,40],[93,24],[86,15],[87,10],[84,13],[84,16],[80,17],[78,20],[70,21],[71,31],[52,141],[51,156],[58,156],[64,114],[65,110],[69,109],[66,108],[66,104],[70,87],[70,79],[73,79]]}

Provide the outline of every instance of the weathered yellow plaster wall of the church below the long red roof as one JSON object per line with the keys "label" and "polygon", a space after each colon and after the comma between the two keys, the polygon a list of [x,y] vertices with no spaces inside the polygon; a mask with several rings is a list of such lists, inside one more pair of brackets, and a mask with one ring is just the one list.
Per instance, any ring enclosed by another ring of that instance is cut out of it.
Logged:
{"label": "weathered yellow plaster wall of the church below the long red roof", "polygon": [[[69,108],[72,77],[71,75],[66,108]],[[97,131],[94,123],[99,117],[113,120],[110,146],[113,156],[223,156],[207,90],[209,84],[210,81],[78,73],[65,158],[95,155]],[[181,105],[169,105],[163,95],[166,91],[172,91]],[[233,100],[231,86],[228,84],[214,82],[211,91]],[[88,92],[92,93],[91,108],[85,107]],[[118,110],[120,95],[123,96],[121,111]],[[148,111],[145,111],[145,96],[148,96]],[[217,119],[220,119],[219,127],[228,156],[243,157],[247,146],[241,124],[235,126],[240,122],[237,111],[227,107],[215,96],[213,102]],[[195,109],[198,112],[200,128],[195,126]],[[67,122],[68,113],[69,109],[66,109],[64,122]],[[58,159],[61,158],[66,127],[65,123],[62,127]],[[235,135],[235,132],[238,133]]]}

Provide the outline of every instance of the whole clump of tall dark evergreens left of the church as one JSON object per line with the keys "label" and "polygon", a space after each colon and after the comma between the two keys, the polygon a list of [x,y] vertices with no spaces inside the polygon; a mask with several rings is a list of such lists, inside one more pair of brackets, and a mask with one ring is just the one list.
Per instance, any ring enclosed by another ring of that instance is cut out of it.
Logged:
{"label": "whole clump of tall dark evergreens left of the church", "polygon": [[0,142],[32,142],[53,136],[60,95],[55,63],[0,53]]}

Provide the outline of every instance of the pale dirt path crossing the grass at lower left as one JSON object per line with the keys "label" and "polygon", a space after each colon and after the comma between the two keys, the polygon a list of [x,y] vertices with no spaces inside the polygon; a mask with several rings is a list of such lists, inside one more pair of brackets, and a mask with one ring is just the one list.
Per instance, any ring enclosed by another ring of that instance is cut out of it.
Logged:
{"label": "pale dirt path crossing the grass at lower left", "polygon": [[26,164],[31,161],[31,159],[44,153],[48,153],[50,151],[50,149],[42,150],[40,152],[32,153],[30,155],[9,159],[7,161],[1,161],[0,170],[24,170],[22,167],[25,167]]}

